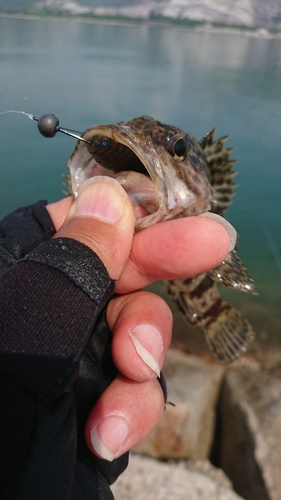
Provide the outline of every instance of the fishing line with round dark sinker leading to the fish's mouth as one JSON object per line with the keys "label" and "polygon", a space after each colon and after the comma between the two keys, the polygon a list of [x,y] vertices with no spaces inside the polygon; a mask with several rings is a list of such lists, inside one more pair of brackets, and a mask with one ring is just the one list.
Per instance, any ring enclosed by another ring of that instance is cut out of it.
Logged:
{"label": "fishing line with round dark sinker leading to the fish's mouth", "polygon": [[14,109],[10,109],[8,111],[2,111],[0,115],[5,115],[8,113],[18,113],[20,115],[27,116],[30,120],[34,120],[38,122],[38,130],[43,137],[52,138],[56,135],[57,132],[61,132],[62,134],[69,135],[74,139],[78,139],[79,141],[87,142],[90,144],[90,141],[81,137],[80,132],[76,132],[75,130],[69,130],[67,128],[62,128],[59,126],[59,119],[53,113],[48,113],[46,115],[42,115],[39,118],[37,116],[32,115],[31,113],[26,113],[25,111],[17,111]]}

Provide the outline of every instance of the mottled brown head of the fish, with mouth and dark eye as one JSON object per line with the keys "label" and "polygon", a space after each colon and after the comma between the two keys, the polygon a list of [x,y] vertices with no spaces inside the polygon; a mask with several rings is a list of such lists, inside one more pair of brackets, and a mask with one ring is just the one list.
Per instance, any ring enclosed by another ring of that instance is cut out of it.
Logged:
{"label": "mottled brown head of the fish, with mouth and dark eye", "polygon": [[115,178],[140,208],[136,231],[210,209],[206,159],[190,134],[141,116],[90,127],[81,137],[84,141],[78,141],[68,161],[74,196],[90,177]]}

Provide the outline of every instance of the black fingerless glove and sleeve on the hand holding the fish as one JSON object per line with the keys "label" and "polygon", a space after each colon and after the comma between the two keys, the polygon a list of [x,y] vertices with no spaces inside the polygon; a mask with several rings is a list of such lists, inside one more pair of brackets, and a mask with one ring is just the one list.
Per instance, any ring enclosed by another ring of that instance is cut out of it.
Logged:
{"label": "black fingerless glove and sleeve on the hand holding the fish", "polygon": [[98,459],[83,427],[116,375],[104,314],[114,282],[88,247],[44,242],[54,233],[44,210],[20,245],[12,216],[9,231],[0,224],[0,497],[108,500],[128,455]]}

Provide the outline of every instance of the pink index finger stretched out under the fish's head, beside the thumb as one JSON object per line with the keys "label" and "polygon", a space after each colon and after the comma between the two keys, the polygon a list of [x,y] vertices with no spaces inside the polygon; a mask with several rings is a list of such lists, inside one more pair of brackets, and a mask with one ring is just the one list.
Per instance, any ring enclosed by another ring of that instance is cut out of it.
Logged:
{"label": "pink index finger stretched out under the fish's head, beside the thumb", "polygon": [[128,293],[156,280],[197,276],[219,265],[228,252],[228,234],[214,220],[186,217],[160,222],[134,236],[116,293]]}

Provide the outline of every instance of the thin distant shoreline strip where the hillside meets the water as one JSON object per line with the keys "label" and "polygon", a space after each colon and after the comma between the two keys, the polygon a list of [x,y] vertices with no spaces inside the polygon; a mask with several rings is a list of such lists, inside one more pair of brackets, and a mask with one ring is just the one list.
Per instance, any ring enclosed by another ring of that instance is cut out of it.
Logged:
{"label": "thin distant shoreline strip where the hillside meets the water", "polygon": [[139,20],[134,18],[102,18],[102,17],[81,17],[77,16],[65,16],[65,15],[36,15],[36,14],[23,14],[23,13],[6,13],[0,12],[0,18],[10,18],[10,19],[25,19],[29,21],[61,21],[61,22],[78,22],[82,24],[104,24],[111,26],[148,26],[148,27],[169,27],[177,30],[189,30],[195,33],[210,33],[210,34],[224,34],[224,35],[238,35],[238,36],[248,36],[255,38],[264,39],[280,39],[281,31],[270,32],[267,28],[247,28],[235,26],[216,26],[208,22],[205,24],[198,25],[183,25],[182,23],[169,22],[167,21],[156,21],[156,20]]}

